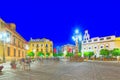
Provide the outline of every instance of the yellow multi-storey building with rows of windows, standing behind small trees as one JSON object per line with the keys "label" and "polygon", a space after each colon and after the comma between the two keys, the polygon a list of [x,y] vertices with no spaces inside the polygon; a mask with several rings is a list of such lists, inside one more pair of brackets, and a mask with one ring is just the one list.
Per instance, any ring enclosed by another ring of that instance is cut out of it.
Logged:
{"label": "yellow multi-storey building with rows of windows, standing behind small trees", "polygon": [[28,52],[34,52],[35,57],[37,57],[38,52],[44,53],[46,57],[46,53],[50,53],[50,56],[52,56],[53,53],[53,42],[49,39],[32,39],[29,42],[29,50]]}

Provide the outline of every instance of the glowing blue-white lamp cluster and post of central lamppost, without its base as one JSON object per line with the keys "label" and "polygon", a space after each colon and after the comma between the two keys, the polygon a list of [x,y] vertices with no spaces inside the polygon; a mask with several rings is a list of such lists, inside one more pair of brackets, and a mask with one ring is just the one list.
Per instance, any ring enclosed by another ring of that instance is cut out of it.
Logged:
{"label": "glowing blue-white lamp cluster and post of central lamppost, without its base", "polygon": [[79,30],[78,30],[78,29],[75,30],[75,33],[74,33],[74,35],[72,36],[72,39],[73,39],[73,41],[75,41],[75,45],[76,45],[76,46],[75,46],[75,53],[78,54],[78,52],[79,52],[78,42],[82,40],[82,36],[81,36],[81,34],[79,33]]}

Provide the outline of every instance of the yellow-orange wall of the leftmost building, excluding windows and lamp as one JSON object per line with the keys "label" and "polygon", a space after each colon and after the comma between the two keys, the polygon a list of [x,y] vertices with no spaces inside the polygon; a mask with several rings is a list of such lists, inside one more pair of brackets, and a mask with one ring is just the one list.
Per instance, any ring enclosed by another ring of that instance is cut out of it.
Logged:
{"label": "yellow-orange wall of the leftmost building, excluding windows and lamp", "polygon": [[[15,24],[13,24],[13,23],[6,24],[1,19],[0,19],[0,23],[3,24],[3,25],[0,25],[0,27],[4,28],[4,29],[0,29],[0,31],[2,32],[3,30],[5,30],[6,32],[9,32],[11,34],[10,42],[8,44],[5,43],[5,59],[6,59],[6,61],[10,61],[12,59],[18,60],[20,58],[25,58],[26,50],[23,47],[23,45],[26,45],[26,40],[23,39],[22,36],[16,32]],[[16,40],[15,40],[16,44],[14,44],[14,37],[16,38]],[[18,46],[18,41],[20,42],[20,46]],[[8,48],[7,47],[10,47],[10,56],[8,56]],[[14,48],[16,49],[16,57],[14,57]],[[20,50],[20,57],[18,57],[18,50]],[[22,51],[24,52],[23,56],[22,56]],[[0,59],[3,60],[3,43],[1,43],[1,41],[0,41]]]}

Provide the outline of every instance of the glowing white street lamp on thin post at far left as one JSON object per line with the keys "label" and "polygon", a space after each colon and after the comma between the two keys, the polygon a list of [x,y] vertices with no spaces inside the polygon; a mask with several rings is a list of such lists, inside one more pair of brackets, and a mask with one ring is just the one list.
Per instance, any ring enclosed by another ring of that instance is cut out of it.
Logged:
{"label": "glowing white street lamp on thin post at far left", "polygon": [[10,36],[6,31],[0,33],[0,41],[3,43],[3,62],[6,62],[5,44],[10,42]]}

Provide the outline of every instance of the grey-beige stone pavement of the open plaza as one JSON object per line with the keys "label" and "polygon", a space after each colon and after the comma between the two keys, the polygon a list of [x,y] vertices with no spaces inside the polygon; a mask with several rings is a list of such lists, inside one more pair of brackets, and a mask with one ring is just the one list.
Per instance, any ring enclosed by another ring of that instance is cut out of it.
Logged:
{"label": "grey-beige stone pavement of the open plaza", "polygon": [[30,71],[3,70],[0,80],[120,80],[120,63],[35,62]]}

